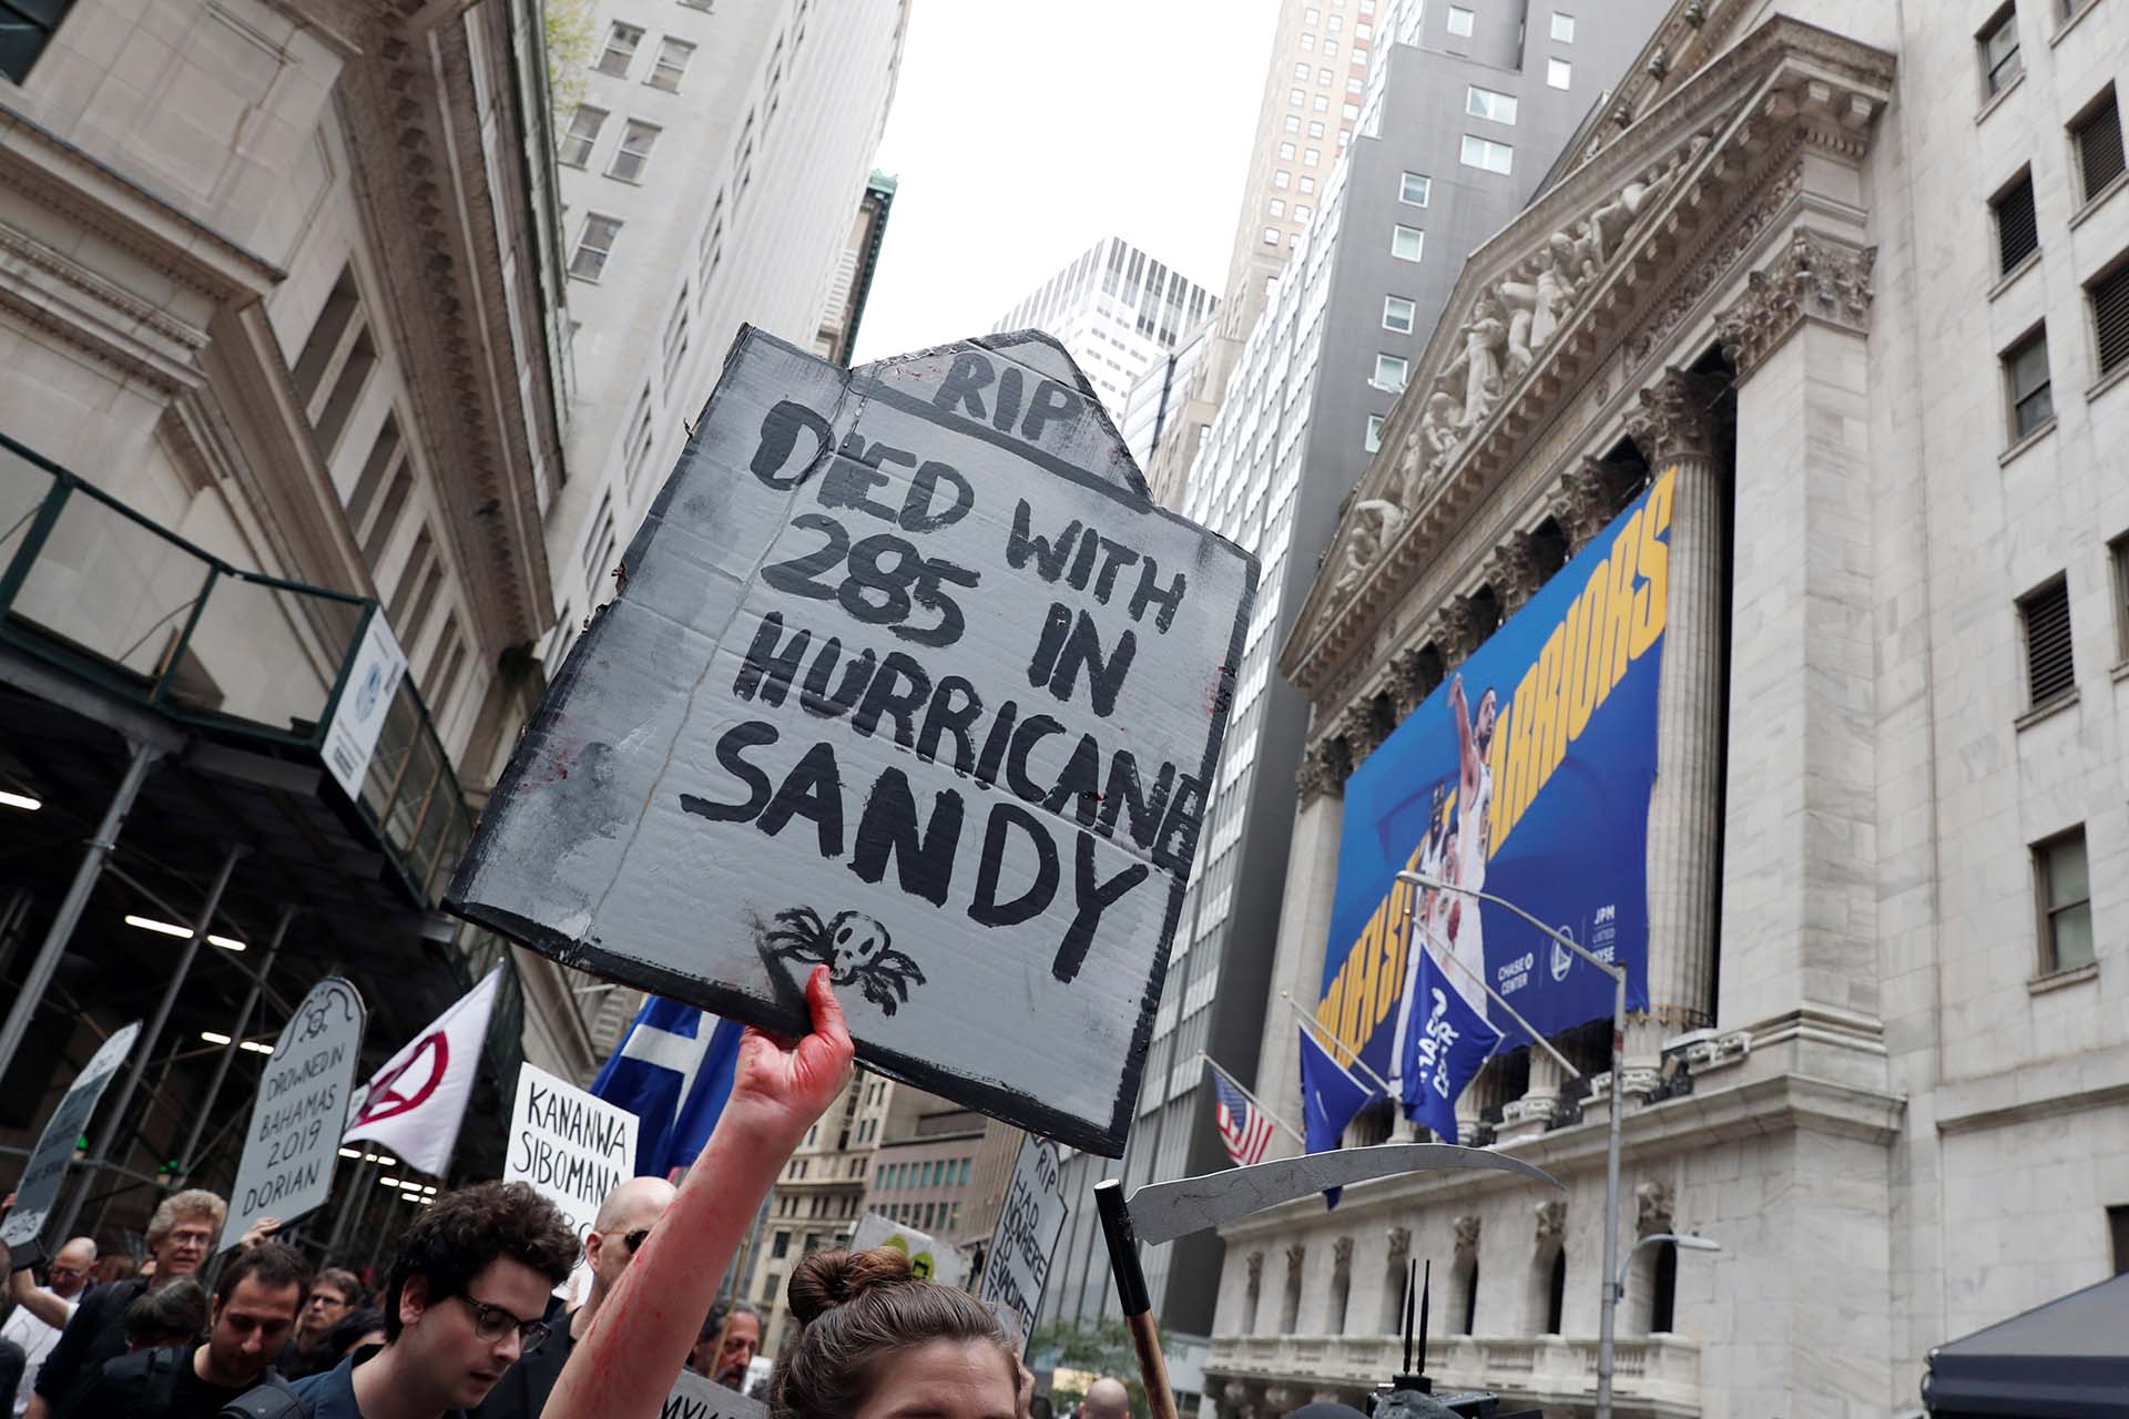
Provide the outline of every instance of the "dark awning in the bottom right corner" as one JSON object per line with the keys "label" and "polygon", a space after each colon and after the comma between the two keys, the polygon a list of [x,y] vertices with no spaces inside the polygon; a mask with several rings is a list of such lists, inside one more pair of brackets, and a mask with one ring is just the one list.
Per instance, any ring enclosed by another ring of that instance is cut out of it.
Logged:
{"label": "dark awning in the bottom right corner", "polygon": [[2129,1274],[1940,1345],[1922,1402],[1937,1419],[2118,1419],[2129,1408]]}

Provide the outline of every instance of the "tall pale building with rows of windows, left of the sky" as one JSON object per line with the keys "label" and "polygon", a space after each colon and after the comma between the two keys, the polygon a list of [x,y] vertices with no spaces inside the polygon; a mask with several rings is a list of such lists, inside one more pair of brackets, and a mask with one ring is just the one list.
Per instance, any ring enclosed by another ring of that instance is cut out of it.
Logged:
{"label": "tall pale building with rows of windows, left of the sky", "polygon": [[741,323],[820,334],[888,119],[907,0],[594,0],[562,134],[568,485],[547,511],[558,666]]}

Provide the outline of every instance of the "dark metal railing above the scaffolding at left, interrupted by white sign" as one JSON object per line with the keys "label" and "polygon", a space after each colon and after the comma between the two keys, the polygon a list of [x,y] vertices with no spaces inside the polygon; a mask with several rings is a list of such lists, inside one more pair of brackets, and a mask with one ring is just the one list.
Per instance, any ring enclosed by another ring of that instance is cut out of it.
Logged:
{"label": "dark metal railing above the scaffolding at left, interrupted by white sign", "polygon": [[[326,725],[375,615],[373,598],[230,566],[0,434],[0,645],[324,766]],[[413,674],[400,677],[353,806],[409,891],[434,906],[473,815]]]}

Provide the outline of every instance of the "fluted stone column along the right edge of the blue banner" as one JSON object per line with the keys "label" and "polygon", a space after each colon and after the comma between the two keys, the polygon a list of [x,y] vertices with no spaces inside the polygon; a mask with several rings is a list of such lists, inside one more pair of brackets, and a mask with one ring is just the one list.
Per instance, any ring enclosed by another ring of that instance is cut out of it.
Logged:
{"label": "fluted stone column along the right edge of the blue banner", "polygon": [[1658,1064],[1663,1040],[1707,1025],[1716,936],[1716,830],[1722,791],[1722,487],[1712,406],[1722,387],[1665,370],[1627,413],[1650,474],[1671,474],[1656,787],[1648,804],[1648,1015],[1627,1028],[1627,1079]]}

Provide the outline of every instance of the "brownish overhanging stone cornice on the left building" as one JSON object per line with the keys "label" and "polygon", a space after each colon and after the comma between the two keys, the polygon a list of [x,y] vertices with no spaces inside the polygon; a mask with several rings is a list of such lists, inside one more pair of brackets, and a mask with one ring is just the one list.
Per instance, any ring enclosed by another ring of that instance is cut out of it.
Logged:
{"label": "brownish overhanging stone cornice on the left building", "polygon": [[[370,57],[347,68],[334,106],[379,253],[375,319],[407,366],[411,423],[443,506],[436,532],[456,547],[477,642],[519,645],[545,630],[554,600],[530,438],[545,434],[547,468],[560,468],[551,425],[524,428],[515,366],[498,364],[547,362],[543,340],[519,347],[500,277],[502,251],[522,234],[498,223],[530,228],[526,194],[490,187],[464,23],[422,34],[381,17],[364,47]],[[515,83],[507,36],[483,51],[505,60],[488,83]],[[511,106],[498,113],[515,117]],[[511,132],[494,143],[517,145]],[[547,391],[551,381],[543,372],[532,387]]]}

